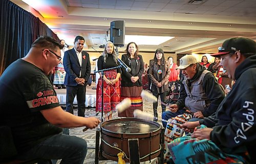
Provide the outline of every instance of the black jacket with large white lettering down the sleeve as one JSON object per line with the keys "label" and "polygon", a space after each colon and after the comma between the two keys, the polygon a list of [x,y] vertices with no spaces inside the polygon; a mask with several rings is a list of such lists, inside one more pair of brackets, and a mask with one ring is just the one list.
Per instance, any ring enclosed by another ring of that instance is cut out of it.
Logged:
{"label": "black jacket with large white lettering down the sleeve", "polygon": [[200,124],[213,127],[210,140],[223,151],[244,153],[255,162],[256,152],[256,55],[243,61],[234,72],[236,83],[220,104],[215,115]]}

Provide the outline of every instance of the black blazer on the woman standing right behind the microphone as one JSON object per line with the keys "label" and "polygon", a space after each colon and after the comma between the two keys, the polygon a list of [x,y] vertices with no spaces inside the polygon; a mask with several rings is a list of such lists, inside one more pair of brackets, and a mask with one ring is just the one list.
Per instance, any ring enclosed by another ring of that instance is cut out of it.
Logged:
{"label": "black blazer on the woman standing right behind the microphone", "polygon": [[[131,77],[133,76],[131,72],[126,72],[125,69],[122,67],[122,74],[121,74],[121,86],[123,87],[133,87],[133,86],[142,86],[142,74],[144,72],[144,62],[142,59],[142,56],[140,54],[138,54],[137,56],[137,68],[136,68],[136,75],[138,76],[139,79],[136,81],[136,83],[133,83],[131,81]],[[122,54],[122,61],[123,63],[125,63],[128,67],[131,68],[130,62],[128,60],[128,57],[126,56],[126,54]]]}

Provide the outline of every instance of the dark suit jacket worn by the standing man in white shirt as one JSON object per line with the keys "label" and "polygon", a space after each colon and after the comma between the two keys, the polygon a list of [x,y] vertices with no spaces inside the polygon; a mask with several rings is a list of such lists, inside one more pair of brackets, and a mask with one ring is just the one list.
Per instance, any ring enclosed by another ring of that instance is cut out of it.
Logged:
{"label": "dark suit jacket worn by the standing man in white shirt", "polygon": [[[77,54],[74,48],[65,51],[63,58],[63,66],[66,71],[65,82],[66,86],[77,86],[75,78],[84,78],[88,81],[91,74],[91,63],[89,53],[82,51],[82,66],[80,66]],[[81,76],[80,76],[81,70]],[[80,77],[79,77],[80,76]]]}

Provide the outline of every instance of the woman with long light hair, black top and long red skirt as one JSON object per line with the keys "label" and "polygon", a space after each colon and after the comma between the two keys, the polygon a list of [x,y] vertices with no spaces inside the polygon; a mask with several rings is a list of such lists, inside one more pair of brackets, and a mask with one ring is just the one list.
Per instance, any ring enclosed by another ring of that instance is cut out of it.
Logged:
{"label": "woman with long light hair, black top and long red skirt", "polygon": [[[113,68],[118,66],[117,54],[114,44],[108,41],[105,45],[102,56],[98,59],[98,70]],[[101,75],[101,73],[99,73]],[[112,111],[116,104],[120,102],[120,75],[121,69],[111,69],[104,72],[103,76],[103,111],[104,121],[112,119]],[[101,111],[101,76],[96,90],[96,112]]]}

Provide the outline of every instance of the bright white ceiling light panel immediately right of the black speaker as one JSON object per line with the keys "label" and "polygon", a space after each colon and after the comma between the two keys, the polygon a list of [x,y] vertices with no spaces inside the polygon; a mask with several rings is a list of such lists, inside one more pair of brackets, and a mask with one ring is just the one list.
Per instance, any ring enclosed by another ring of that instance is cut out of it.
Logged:
{"label": "bright white ceiling light panel immediately right of the black speaker", "polygon": [[173,38],[175,37],[125,35],[124,44],[135,42],[138,45],[159,45]]}

